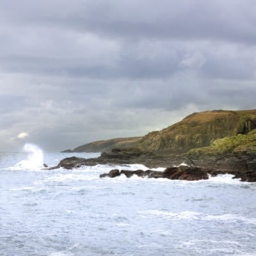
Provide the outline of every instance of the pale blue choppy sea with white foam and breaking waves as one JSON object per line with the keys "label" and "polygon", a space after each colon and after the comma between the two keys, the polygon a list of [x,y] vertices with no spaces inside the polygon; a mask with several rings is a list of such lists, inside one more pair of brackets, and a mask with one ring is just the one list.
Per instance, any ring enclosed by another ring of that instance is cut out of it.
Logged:
{"label": "pale blue choppy sea with white foam and breaking waves", "polygon": [[0,255],[256,255],[254,183],[230,175],[99,179],[113,168],[147,167],[48,171],[43,163],[73,154],[25,150],[0,153]]}

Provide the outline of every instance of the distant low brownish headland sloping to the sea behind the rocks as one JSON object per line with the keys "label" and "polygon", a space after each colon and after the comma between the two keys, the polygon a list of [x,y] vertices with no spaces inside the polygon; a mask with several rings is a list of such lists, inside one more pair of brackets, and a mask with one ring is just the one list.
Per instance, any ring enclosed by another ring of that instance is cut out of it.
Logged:
{"label": "distant low brownish headland sloping to the sea behind the rocks", "polygon": [[115,138],[111,140],[94,141],[63,152],[110,152],[113,148],[132,148],[138,144],[142,137]]}

